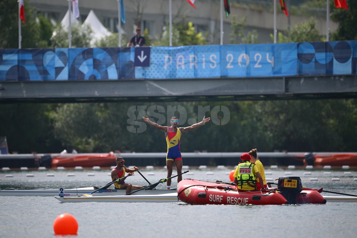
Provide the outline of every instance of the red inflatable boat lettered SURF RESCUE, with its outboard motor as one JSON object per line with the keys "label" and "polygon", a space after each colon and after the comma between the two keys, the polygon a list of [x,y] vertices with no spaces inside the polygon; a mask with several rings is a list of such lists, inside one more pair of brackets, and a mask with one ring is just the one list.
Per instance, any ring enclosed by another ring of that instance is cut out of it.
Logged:
{"label": "red inflatable boat lettered SURF RESCUE, with its outboard motor", "polygon": [[266,191],[238,192],[236,186],[229,183],[196,179],[183,179],[177,184],[178,198],[190,204],[325,204],[321,191],[322,188],[302,188],[300,177],[279,178],[278,187]]}

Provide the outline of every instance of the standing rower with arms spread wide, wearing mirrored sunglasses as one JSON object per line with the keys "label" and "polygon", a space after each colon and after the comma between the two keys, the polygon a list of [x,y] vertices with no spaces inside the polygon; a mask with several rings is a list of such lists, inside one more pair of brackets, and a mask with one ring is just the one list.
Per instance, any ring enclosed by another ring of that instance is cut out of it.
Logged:
{"label": "standing rower with arms spread wide, wearing mirrored sunglasses", "polygon": [[[182,173],[182,156],[180,151],[180,140],[181,140],[181,133],[196,129],[205,123],[211,120],[211,117],[206,118],[203,116],[201,122],[193,124],[192,126],[188,127],[180,127],[177,128],[178,125],[178,118],[171,117],[171,127],[168,126],[160,126],[155,122],[150,121],[150,119],[146,117],[142,117],[142,120],[149,123],[150,126],[159,129],[160,131],[165,132],[166,143],[167,143],[167,154],[166,154],[166,167],[167,167],[167,177],[170,178],[172,175],[172,168],[174,167],[174,163],[176,166],[177,174]],[[182,175],[177,176],[177,183],[182,180]],[[167,180],[166,183],[167,189],[171,188],[171,179]]]}

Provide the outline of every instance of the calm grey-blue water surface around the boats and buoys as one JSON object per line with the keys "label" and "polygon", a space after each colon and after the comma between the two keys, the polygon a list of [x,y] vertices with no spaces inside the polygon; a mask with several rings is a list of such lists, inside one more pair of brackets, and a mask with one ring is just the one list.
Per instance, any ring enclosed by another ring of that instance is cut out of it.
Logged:
{"label": "calm grey-blue water surface around the boats and buoys", "polygon": [[[184,178],[228,181],[231,169],[190,169]],[[357,171],[269,170],[267,178],[300,176],[305,187],[357,194]],[[110,182],[110,171],[8,171],[0,172],[0,189],[50,189],[104,186]],[[164,169],[141,172],[151,182],[166,177]],[[213,174],[206,174],[212,172]],[[285,172],[292,174],[286,175]],[[34,177],[26,177],[32,173]],[[47,173],[55,177],[46,177]],[[74,173],[74,177],[67,177]],[[95,176],[87,176],[94,173]],[[149,173],[149,174],[148,174]],[[5,178],[13,174],[13,178]],[[308,181],[311,177],[320,181]],[[339,177],[340,182],[331,182]],[[127,181],[145,185],[139,175]],[[164,187],[166,184],[160,184]],[[172,183],[176,185],[176,181]],[[158,187],[159,187],[158,186]],[[334,196],[333,194],[323,194]],[[338,196],[338,195],[336,195]],[[305,205],[188,205],[185,203],[61,203],[53,197],[0,197],[0,237],[54,237],[53,222],[61,213],[72,214],[79,224],[77,237],[355,237],[356,203]],[[238,233],[237,228],[248,226]]]}

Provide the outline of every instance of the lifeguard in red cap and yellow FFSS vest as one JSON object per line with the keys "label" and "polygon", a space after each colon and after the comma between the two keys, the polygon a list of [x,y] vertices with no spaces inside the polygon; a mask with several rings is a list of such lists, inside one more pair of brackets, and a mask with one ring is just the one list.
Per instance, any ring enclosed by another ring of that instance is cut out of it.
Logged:
{"label": "lifeguard in red cap and yellow FFSS vest", "polygon": [[262,176],[255,163],[251,163],[251,155],[243,153],[241,155],[242,163],[239,163],[236,171],[233,174],[234,183],[237,184],[238,191],[251,191],[256,189],[257,178],[261,186],[260,190],[264,190]]}

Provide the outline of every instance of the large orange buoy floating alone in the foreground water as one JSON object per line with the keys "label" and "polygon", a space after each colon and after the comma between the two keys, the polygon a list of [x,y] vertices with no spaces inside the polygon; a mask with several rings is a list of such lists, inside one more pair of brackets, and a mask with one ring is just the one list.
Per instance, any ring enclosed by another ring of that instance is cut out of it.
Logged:
{"label": "large orange buoy floating alone in the foreground water", "polygon": [[56,235],[76,235],[78,223],[76,218],[68,213],[63,213],[56,217],[53,222],[53,230]]}

